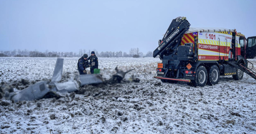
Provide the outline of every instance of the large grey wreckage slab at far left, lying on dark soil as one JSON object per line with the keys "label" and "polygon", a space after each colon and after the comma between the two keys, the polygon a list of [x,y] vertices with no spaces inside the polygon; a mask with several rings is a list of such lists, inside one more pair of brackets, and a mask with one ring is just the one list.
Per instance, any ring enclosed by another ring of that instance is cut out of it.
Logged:
{"label": "large grey wreckage slab at far left, lying on dark soil", "polygon": [[41,81],[23,89],[14,95],[12,100],[15,102],[37,100],[43,98],[48,92],[50,92],[50,89],[47,88],[47,82]]}

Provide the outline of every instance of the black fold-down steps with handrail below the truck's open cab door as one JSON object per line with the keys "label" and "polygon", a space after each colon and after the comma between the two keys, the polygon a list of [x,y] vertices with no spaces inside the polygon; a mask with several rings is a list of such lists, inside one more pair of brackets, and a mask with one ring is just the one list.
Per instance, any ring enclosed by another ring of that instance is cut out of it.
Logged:
{"label": "black fold-down steps with handrail below the truck's open cab door", "polygon": [[[244,57],[242,57],[242,56],[240,56],[240,55],[238,55],[238,56],[239,56],[239,58],[244,59]],[[246,59],[244,59],[244,60],[247,61],[247,64],[248,64],[248,63],[252,64],[250,61],[248,61],[248,60],[246,60]],[[240,60],[240,61],[241,61],[241,60]],[[240,64],[240,62],[236,62],[236,61],[234,61],[234,60],[228,61],[228,63],[229,63],[230,65],[232,65],[232,66],[234,66],[234,67],[236,67],[236,68],[242,70],[244,73],[248,74],[249,76],[251,76],[252,78],[254,78],[254,79],[256,80],[256,73],[252,70],[252,69],[254,68],[253,64],[252,64],[253,67],[252,67],[251,69],[249,69],[247,66],[242,65],[242,64]]]}

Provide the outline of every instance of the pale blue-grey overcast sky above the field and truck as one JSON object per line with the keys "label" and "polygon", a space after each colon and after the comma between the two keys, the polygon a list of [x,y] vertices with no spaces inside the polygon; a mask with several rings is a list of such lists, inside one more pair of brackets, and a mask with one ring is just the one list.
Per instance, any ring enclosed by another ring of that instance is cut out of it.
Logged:
{"label": "pale blue-grey overcast sky above the field and truck", "polygon": [[255,0],[0,0],[0,50],[154,51],[172,19],[256,36]]}

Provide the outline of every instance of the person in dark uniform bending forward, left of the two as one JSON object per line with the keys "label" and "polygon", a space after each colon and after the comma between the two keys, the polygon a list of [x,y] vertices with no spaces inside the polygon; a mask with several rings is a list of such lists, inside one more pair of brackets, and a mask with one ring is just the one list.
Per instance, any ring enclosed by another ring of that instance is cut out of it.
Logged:
{"label": "person in dark uniform bending forward, left of the two", "polygon": [[90,67],[87,58],[88,58],[88,55],[87,55],[87,54],[84,54],[84,55],[78,60],[77,69],[78,69],[80,75],[82,75],[82,74],[87,74],[87,72],[86,72],[85,69],[88,68],[88,67]]}

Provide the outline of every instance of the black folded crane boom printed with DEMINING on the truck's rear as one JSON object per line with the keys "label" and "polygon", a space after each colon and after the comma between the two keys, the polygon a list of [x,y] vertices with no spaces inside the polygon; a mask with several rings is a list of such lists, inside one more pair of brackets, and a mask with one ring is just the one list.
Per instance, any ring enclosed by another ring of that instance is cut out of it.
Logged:
{"label": "black folded crane boom printed with DEMINING on the truck's rear", "polygon": [[164,54],[167,48],[174,45],[174,42],[184,35],[184,33],[189,29],[189,26],[190,23],[185,17],[173,19],[161,40],[160,45],[155,49],[153,57],[155,58],[157,55]]}

